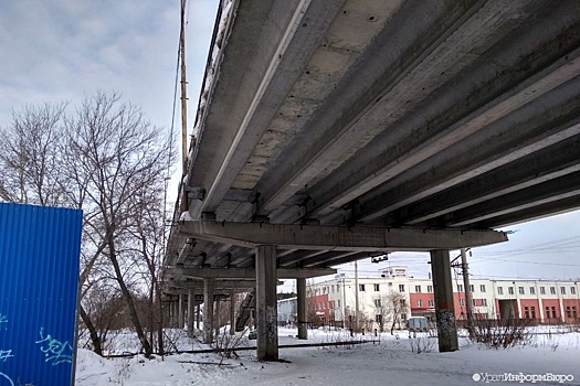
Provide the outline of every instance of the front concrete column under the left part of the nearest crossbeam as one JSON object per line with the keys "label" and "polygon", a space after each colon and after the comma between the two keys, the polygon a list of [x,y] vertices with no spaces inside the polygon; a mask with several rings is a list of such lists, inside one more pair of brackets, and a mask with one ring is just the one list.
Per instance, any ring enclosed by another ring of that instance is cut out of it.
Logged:
{"label": "front concrete column under the left part of the nearest crossbeam", "polygon": [[256,248],[257,360],[278,360],[276,247]]}

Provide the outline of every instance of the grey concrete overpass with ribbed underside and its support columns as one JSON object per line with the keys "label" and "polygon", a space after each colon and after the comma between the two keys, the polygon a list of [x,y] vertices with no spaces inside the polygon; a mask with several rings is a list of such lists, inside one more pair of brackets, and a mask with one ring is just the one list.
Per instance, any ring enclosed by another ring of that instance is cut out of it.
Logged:
{"label": "grey concrete overpass with ribbed underside and its support columns", "polygon": [[277,278],[300,299],[334,266],[430,251],[443,321],[450,249],[580,206],[578,1],[233,0],[215,25],[166,276],[207,303],[255,279],[260,358]]}

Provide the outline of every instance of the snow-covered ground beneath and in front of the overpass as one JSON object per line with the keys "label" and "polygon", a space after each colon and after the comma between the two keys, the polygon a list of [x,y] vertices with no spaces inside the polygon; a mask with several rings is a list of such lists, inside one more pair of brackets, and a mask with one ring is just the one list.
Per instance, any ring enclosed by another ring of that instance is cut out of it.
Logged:
{"label": "snow-covered ground beneath and in front of the overpass", "polygon": [[[257,362],[255,351],[240,351],[240,357],[223,360],[214,354],[176,354],[164,358],[102,358],[80,350],[76,385],[476,385],[496,383],[506,373],[532,383],[535,375],[565,375],[563,383],[537,380],[536,385],[580,385],[580,333],[537,332],[531,344],[508,350],[489,350],[461,337],[461,350],[439,353],[435,339],[410,340],[405,332],[382,334],[380,342],[360,345],[281,349],[281,362]],[[296,330],[280,329],[280,344],[298,341]],[[181,332],[171,335],[180,351],[205,346]],[[348,340],[348,333],[310,330],[308,341]],[[359,339],[361,336],[357,336]],[[372,335],[366,340],[376,340]],[[123,341],[123,336],[119,339]],[[133,340],[134,341],[134,340]],[[130,349],[125,336],[120,351]],[[255,341],[244,344],[255,344]],[[413,353],[412,345],[425,352]],[[431,347],[431,350],[430,350]],[[573,380],[571,380],[573,377]],[[512,380],[507,384],[517,384]],[[506,384],[506,383],[504,383]]]}

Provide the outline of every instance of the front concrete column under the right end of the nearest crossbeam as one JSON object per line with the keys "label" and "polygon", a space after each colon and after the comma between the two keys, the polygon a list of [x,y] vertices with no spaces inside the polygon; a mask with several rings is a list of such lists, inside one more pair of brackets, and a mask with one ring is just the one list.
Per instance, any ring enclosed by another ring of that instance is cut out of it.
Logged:
{"label": "front concrete column under the right end of the nearest crossbeam", "polygon": [[433,274],[439,351],[444,353],[460,350],[449,250],[431,251],[431,271]]}

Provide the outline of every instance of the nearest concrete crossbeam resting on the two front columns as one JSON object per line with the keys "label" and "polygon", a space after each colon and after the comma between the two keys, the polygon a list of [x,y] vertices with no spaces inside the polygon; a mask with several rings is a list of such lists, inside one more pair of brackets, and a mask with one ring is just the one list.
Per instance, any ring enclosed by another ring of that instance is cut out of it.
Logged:
{"label": "nearest concrete crossbeam resting on the two front columns", "polygon": [[371,226],[282,225],[262,223],[183,222],[180,233],[218,243],[284,249],[381,251],[457,249],[507,242],[505,233]]}

